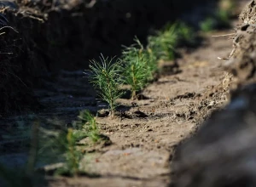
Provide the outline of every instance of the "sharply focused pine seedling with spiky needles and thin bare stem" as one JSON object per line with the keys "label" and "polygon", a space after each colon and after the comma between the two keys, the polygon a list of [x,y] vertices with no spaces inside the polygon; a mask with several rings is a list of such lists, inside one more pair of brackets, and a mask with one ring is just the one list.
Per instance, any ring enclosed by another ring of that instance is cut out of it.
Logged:
{"label": "sharply focused pine seedling with spiky needles and thin bare stem", "polygon": [[119,87],[122,84],[120,64],[119,62],[113,63],[113,59],[105,59],[103,55],[100,59],[101,62],[91,61],[89,80],[98,90],[101,99],[108,102],[110,114],[114,117],[117,107],[116,99],[123,94]]}

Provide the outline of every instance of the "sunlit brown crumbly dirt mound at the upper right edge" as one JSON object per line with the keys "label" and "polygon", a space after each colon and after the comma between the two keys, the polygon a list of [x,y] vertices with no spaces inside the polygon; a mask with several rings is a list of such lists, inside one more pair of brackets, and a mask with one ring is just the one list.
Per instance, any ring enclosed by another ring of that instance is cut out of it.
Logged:
{"label": "sunlit brown crumbly dirt mound at the upper right edge", "polygon": [[242,23],[236,28],[234,49],[225,63],[237,79],[238,86],[255,82],[256,72],[256,2],[248,3],[241,12]]}

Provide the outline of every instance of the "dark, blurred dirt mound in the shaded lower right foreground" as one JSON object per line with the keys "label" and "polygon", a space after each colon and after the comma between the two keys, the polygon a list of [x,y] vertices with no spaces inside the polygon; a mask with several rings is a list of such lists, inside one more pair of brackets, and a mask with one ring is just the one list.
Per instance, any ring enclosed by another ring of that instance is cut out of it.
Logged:
{"label": "dark, blurred dirt mound in the shaded lower right foreground", "polygon": [[233,94],[195,137],[177,149],[173,162],[177,187],[255,186],[256,85]]}

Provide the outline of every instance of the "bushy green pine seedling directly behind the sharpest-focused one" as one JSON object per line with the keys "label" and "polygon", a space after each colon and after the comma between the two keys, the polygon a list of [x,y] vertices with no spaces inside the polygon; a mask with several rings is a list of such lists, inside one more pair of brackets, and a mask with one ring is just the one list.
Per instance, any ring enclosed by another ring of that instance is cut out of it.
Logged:
{"label": "bushy green pine seedling directly behind the sharpest-focused one", "polygon": [[137,92],[148,84],[153,71],[156,70],[155,61],[149,59],[153,54],[148,53],[137,38],[136,42],[131,47],[125,47],[120,59],[124,83],[131,86],[131,99],[137,98]]}

